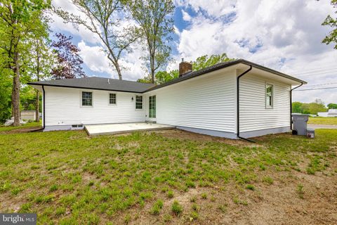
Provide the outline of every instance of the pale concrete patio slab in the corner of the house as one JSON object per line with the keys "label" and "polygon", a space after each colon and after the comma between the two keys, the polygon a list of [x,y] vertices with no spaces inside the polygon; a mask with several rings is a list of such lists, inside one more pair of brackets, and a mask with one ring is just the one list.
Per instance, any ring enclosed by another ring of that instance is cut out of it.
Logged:
{"label": "pale concrete patio slab in the corner of the house", "polygon": [[151,131],[159,129],[173,129],[176,128],[166,124],[154,124],[146,122],[134,122],[124,124],[94,124],[86,125],[84,127],[90,136],[103,134],[122,134],[132,131]]}

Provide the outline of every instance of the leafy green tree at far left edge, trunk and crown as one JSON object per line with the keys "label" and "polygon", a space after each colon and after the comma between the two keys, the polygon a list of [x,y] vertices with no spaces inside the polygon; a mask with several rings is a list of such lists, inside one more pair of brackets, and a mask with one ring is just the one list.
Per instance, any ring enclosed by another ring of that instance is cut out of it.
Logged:
{"label": "leafy green tree at far left edge, trunk and crown", "polygon": [[11,70],[13,86],[11,93],[14,126],[20,125],[20,75],[27,53],[27,37],[39,30],[39,20],[50,0],[2,0],[0,4],[0,48],[6,68]]}

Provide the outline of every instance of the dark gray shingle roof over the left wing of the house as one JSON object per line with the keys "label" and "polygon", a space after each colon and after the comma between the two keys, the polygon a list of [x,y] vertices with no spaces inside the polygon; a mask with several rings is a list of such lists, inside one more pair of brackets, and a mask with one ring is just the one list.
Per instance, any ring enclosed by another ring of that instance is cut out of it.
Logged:
{"label": "dark gray shingle roof over the left wing of the house", "polygon": [[[110,84],[109,84],[110,83]],[[127,80],[108,79],[103,77],[84,77],[75,79],[53,79],[42,82],[30,82],[31,85],[44,86],[65,86],[81,89],[98,89],[107,91],[125,91],[142,93],[154,86],[154,84],[144,84]]]}

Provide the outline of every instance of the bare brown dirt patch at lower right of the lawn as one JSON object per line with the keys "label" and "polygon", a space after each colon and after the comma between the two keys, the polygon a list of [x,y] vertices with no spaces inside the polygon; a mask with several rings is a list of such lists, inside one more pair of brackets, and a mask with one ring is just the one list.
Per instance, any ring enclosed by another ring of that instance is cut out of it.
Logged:
{"label": "bare brown dirt patch at lower right of the lawn", "polygon": [[[303,197],[298,193],[303,186]],[[256,190],[227,184],[217,188],[192,188],[187,193],[164,202],[159,216],[149,214],[150,205],[133,209],[130,224],[337,224],[337,177],[325,174],[307,175],[301,172],[282,172],[274,176],[273,184],[257,184]],[[201,197],[206,193],[207,198]],[[183,205],[183,214],[171,213],[173,200]],[[199,217],[191,212],[197,205]],[[124,223],[125,215],[117,219]]]}

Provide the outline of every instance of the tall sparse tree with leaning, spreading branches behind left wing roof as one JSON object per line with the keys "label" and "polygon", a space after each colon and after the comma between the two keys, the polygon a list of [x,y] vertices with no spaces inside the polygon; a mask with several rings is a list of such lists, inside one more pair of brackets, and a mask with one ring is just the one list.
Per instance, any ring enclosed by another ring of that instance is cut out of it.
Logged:
{"label": "tall sparse tree with leaning, spreading branches behind left wing roof", "polygon": [[[68,13],[62,8],[55,10],[66,23],[83,25],[97,34],[105,46],[105,53],[117,71],[119,79],[122,67],[119,63],[123,53],[132,51],[131,44],[138,38],[135,26],[122,27],[120,14],[124,8],[121,0],[72,0],[72,4],[84,15]],[[124,17],[124,20],[126,18]]]}

